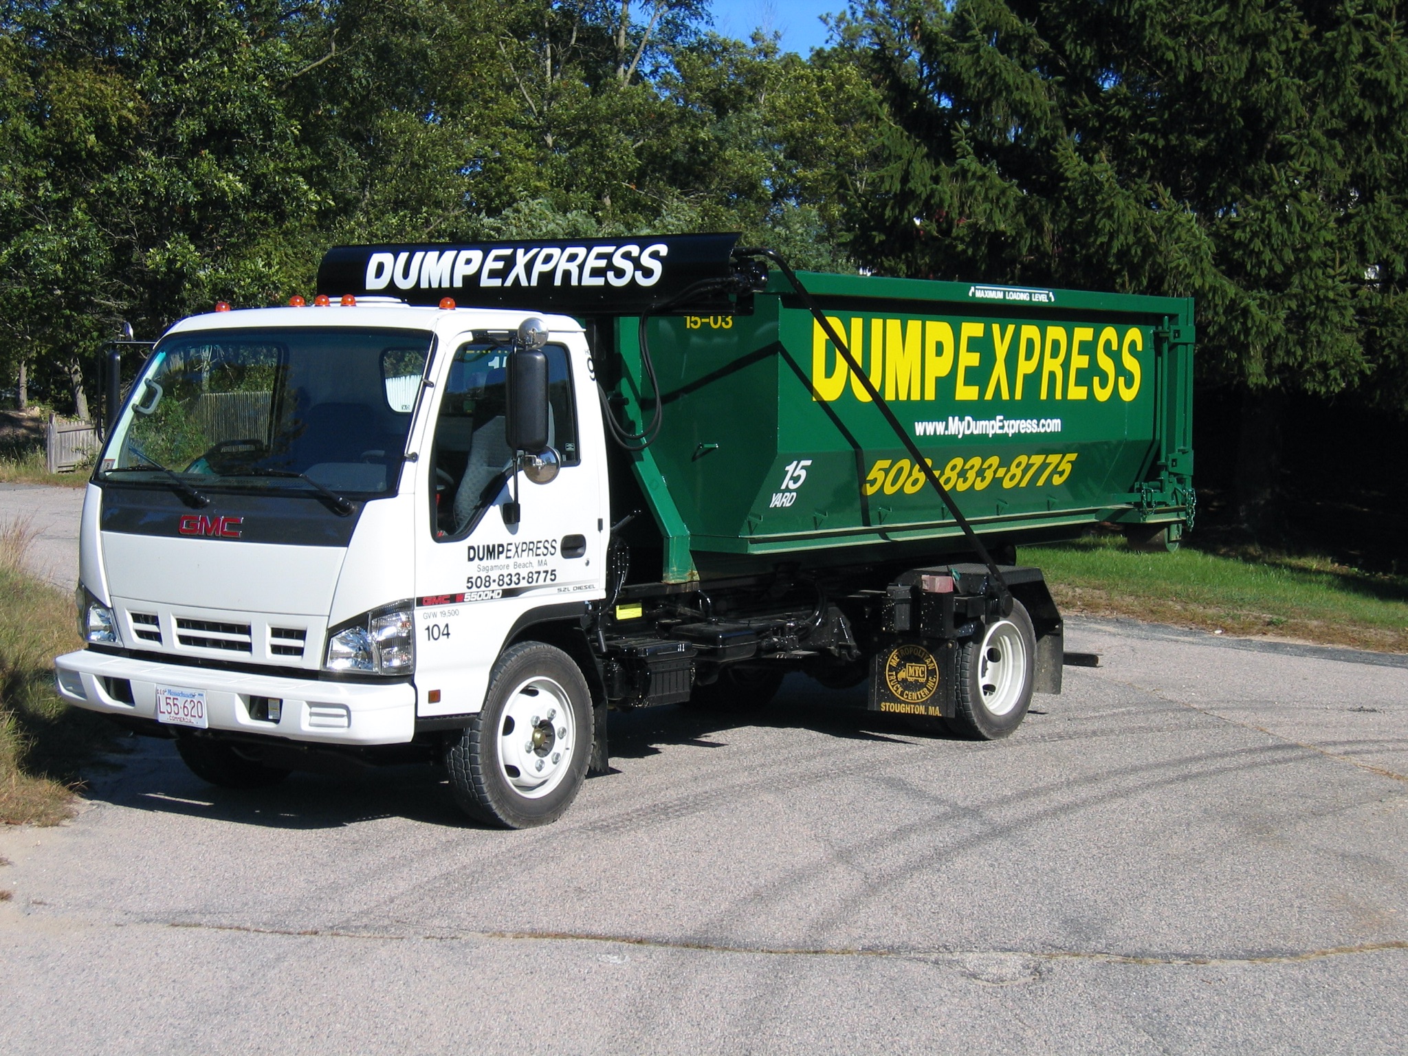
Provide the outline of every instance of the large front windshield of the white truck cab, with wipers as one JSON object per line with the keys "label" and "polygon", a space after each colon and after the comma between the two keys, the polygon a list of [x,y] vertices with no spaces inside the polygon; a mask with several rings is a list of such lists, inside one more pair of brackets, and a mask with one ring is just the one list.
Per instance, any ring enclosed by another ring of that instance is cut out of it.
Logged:
{"label": "large front windshield of the white truck cab, with wipers", "polygon": [[400,329],[173,335],[137,382],[97,477],[386,493],[429,348],[428,332]]}

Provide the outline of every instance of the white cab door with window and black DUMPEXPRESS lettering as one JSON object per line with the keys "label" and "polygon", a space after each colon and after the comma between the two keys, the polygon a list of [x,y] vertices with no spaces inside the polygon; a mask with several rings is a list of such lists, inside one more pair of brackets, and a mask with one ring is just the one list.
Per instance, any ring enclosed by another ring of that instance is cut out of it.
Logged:
{"label": "white cab door with window and black DUMPEXPRESS lettering", "polygon": [[[589,379],[573,376],[567,346],[553,341],[543,352],[549,445],[560,470],[541,484],[515,469],[504,439],[510,346],[466,335],[448,370],[438,372],[444,380],[427,434],[420,477],[425,501],[417,514],[420,715],[477,711],[490,667],[515,625],[576,615],[603,593],[605,467],[600,439],[590,442],[600,424],[587,421],[583,429],[577,393]],[[520,517],[507,524],[504,504],[515,493]]]}

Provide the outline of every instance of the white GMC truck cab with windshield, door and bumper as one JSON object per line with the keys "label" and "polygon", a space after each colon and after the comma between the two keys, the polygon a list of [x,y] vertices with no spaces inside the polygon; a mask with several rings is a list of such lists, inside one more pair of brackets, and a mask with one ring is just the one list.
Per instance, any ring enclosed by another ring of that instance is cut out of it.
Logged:
{"label": "white GMC truck cab with windshield, door and bumper", "polygon": [[[541,321],[548,442],[521,459],[505,376],[528,313],[345,300],[172,327],[84,497],[89,648],[58,658],[59,691],[169,727],[218,783],[286,767],[214,731],[370,746],[460,728],[513,634],[604,593],[582,327]],[[531,670],[501,724],[529,808],[574,791],[590,753],[590,700],[563,681]]]}

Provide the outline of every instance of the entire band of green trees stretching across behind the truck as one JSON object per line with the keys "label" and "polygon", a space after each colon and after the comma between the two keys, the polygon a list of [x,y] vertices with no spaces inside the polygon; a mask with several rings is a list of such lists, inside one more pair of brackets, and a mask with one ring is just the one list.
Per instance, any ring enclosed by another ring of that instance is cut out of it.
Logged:
{"label": "entire band of green trees stretching across behind the truck", "polygon": [[[800,266],[1187,294],[1205,379],[1408,407],[1390,0],[0,0],[0,366],[307,291],[338,241],[742,230]],[[93,372],[86,384],[92,390]]]}

